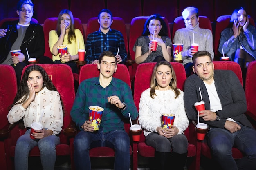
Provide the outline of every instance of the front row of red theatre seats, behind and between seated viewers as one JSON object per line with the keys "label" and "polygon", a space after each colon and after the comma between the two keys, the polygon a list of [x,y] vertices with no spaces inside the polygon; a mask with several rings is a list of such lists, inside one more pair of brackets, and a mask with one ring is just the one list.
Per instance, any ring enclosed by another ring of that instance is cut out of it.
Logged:
{"label": "front row of red theatre seats, behind and between seated viewers", "polygon": [[[183,90],[184,82],[186,80],[186,73],[182,64],[177,62],[171,62],[175,73],[177,75],[177,87]],[[141,93],[150,87],[150,77],[148,73],[152,73],[155,63],[144,63],[140,64],[137,68],[134,82],[134,102],[135,106],[139,110],[139,101]],[[233,70],[238,76],[241,84],[242,73],[240,66],[235,62],[214,62],[215,69],[229,69]],[[59,91],[63,100],[65,108],[65,116],[63,118],[63,130],[59,137],[61,144],[56,146],[56,153],[58,156],[68,155],[72,169],[74,169],[74,136],[77,131],[74,128],[74,123],[70,117],[70,110],[72,108],[75,93],[74,93],[74,79],[72,71],[69,66],[65,64],[40,64],[49,77],[53,84]],[[27,66],[25,67],[27,68]],[[25,70],[24,68],[24,70]],[[23,70],[23,73],[24,73]],[[255,106],[255,80],[254,75],[256,74],[256,61],[251,62],[247,70],[247,79],[245,86],[245,94],[247,98],[247,115],[254,120],[254,126],[256,126],[256,106]],[[61,75],[61,76],[59,76]],[[87,64],[81,67],[81,73],[79,75],[79,84],[84,80],[91,77],[98,77],[99,70],[96,64]],[[123,64],[119,64],[116,73],[113,77],[119,78],[126,82],[131,87],[130,75],[127,67]],[[18,137],[24,134],[26,130],[20,129],[18,125],[9,126],[7,121],[8,106],[12,104],[13,99],[17,93],[17,82],[13,67],[9,65],[0,65],[0,166],[3,169],[13,169],[13,158],[15,145]],[[130,123],[125,120],[125,130],[129,134]],[[211,152],[207,143],[200,142],[196,139],[195,125],[190,122],[189,127],[184,131],[189,146],[188,146],[188,162],[187,167],[189,170],[199,170],[200,167],[200,155],[204,155],[207,158],[211,158]],[[132,138],[131,138],[132,139]],[[132,141],[132,140],[131,140]],[[233,157],[239,159],[243,157],[242,153],[237,149],[232,149]],[[138,154],[142,157],[154,157],[155,149],[151,146],[147,146],[145,143],[144,134],[141,134],[139,142],[131,142],[130,154],[132,157],[131,167],[133,170],[137,170],[138,166]],[[29,156],[40,156],[40,151],[37,147],[33,148]],[[90,150],[90,157],[114,157],[115,152],[112,148],[98,147]]]}

